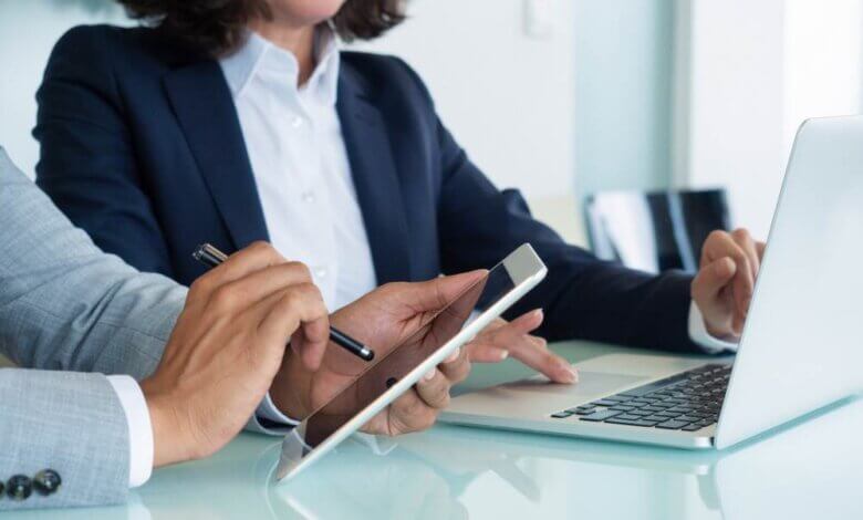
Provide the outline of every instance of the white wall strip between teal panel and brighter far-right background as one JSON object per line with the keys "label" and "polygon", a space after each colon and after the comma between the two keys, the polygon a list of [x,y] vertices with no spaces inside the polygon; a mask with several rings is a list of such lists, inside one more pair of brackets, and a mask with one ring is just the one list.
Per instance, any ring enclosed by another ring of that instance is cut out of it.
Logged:
{"label": "white wall strip between teal panel and brighter far-right background", "polygon": [[680,2],[675,179],[725,186],[737,225],[769,230],[782,178],[782,0]]}

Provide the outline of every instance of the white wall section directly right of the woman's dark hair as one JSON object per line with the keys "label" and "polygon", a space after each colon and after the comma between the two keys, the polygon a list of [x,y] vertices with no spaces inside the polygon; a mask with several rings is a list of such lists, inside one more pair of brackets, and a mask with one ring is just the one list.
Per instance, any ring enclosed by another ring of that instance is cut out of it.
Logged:
{"label": "white wall section directly right of the woman's dark hair", "polygon": [[548,3],[544,39],[524,33],[524,0],[413,0],[402,27],[360,45],[410,63],[471,159],[532,198],[573,186],[573,2]]}

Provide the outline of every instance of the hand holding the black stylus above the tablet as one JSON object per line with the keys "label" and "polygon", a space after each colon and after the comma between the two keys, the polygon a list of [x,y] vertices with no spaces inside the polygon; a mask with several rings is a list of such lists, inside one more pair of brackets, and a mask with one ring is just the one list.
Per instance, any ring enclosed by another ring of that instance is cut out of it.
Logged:
{"label": "hand holding the black stylus above the tablet", "polygon": [[[267,280],[267,283],[261,283]],[[309,270],[256,243],[193,283],[156,371],[142,381],[154,465],[209,456],[254,413],[294,337],[323,355],[327,312]]]}

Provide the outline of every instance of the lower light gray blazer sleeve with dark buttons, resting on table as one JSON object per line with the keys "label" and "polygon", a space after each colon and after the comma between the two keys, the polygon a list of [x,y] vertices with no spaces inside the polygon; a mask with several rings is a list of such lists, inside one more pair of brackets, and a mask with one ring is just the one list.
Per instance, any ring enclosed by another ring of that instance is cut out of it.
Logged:
{"label": "lower light gray blazer sleeve with dark buttons, resting on table", "polygon": [[128,490],[126,418],[102,374],[0,370],[0,474],[33,477],[56,470],[63,483],[48,497],[0,499],[6,509],[96,506]]}

